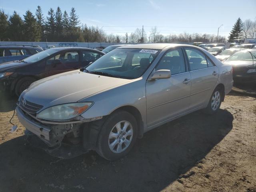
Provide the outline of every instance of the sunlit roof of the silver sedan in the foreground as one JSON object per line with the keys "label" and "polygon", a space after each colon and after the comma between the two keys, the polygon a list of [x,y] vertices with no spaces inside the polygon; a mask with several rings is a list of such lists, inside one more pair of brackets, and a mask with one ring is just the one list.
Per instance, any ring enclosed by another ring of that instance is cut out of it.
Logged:
{"label": "sunlit roof of the silver sedan in the foreground", "polygon": [[[172,43],[145,43],[145,44],[134,44],[134,45],[128,45],[125,46],[125,48],[138,48],[138,49],[160,49],[162,50],[163,48],[169,46],[169,47],[176,47],[176,46],[192,46],[192,45],[187,45],[187,44],[172,44]],[[197,46],[192,46],[192,47],[197,47]],[[117,49],[122,49],[123,47],[118,47]]]}

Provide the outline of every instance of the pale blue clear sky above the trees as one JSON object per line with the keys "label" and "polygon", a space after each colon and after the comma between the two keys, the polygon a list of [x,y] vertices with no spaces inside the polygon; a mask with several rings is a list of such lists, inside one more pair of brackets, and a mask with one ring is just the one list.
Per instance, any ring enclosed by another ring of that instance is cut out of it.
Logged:
{"label": "pale blue clear sky above the trees", "polygon": [[107,34],[124,35],[142,28],[150,34],[156,26],[160,34],[182,32],[217,34],[228,37],[232,26],[242,20],[256,19],[256,0],[0,0],[0,9],[24,15],[35,13],[40,5],[44,17],[60,6],[62,12],[76,9],[81,24],[98,26]]}

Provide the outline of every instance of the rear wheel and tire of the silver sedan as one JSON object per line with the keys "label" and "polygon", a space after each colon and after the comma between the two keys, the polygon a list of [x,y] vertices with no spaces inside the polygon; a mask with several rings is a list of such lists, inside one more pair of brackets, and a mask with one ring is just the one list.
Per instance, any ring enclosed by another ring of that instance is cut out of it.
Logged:
{"label": "rear wheel and tire of the silver sedan", "polygon": [[[222,102],[222,94],[221,89],[216,87],[210,97],[207,107],[203,110],[203,112],[210,115],[216,113],[219,110]],[[214,98],[216,99],[214,100]]]}

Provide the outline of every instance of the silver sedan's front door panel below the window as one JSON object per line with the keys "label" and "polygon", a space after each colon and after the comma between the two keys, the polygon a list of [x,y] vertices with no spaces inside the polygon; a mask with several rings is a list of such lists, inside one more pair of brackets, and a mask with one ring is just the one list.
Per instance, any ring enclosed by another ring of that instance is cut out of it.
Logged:
{"label": "silver sedan's front door panel below the window", "polygon": [[146,82],[147,126],[189,109],[191,82],[183,83],[186,79],[191,79],[189,72]]}

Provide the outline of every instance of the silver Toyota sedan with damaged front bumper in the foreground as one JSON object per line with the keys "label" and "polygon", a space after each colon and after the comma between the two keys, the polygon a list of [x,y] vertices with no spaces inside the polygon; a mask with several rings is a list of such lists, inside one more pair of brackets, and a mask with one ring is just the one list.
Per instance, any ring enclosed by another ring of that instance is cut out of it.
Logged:
{"label": "silver Toyota sedan with damaged front bumper in the foreground", "polygon": [[116,160],[153,128],[196,110],[214,114],[232,85],[232,67],[202,48],[136,44],[34,82],[16,112],[54,156],[96,150]]}

